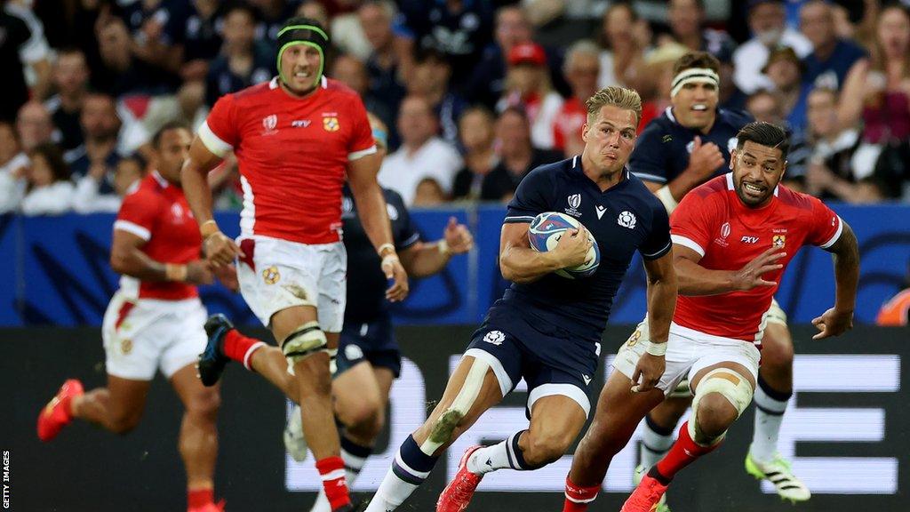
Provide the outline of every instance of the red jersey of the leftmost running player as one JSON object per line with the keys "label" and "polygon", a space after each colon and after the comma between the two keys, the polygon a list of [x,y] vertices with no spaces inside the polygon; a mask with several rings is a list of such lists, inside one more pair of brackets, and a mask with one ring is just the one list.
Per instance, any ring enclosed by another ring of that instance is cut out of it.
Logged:
{"label": "red jersey of the leftmost running player", "polygon": [[[188,263],[199,259],[202,237],[183,189],[171,185],[157,171],[148,173],[126,195],[114,229],[146,241],[142,251],[152,260]],[[120,278],[120,290],[132,299],[179,301],[198,295],[196,286],[186,282],[140,282],[126,275]]]}

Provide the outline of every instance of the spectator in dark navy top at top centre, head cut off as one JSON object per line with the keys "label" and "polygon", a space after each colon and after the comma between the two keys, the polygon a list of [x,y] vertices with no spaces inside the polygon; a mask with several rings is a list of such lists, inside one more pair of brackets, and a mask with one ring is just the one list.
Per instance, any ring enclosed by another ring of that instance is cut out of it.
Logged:
{"label": "spectator in dark navy top at top centre, head cut off", "polygon": [[467,86],[470,72],[490,44],[493,10],[489,2],[399,0],[396,28],[412,48],[435,48],[449,59],[452,88]]}

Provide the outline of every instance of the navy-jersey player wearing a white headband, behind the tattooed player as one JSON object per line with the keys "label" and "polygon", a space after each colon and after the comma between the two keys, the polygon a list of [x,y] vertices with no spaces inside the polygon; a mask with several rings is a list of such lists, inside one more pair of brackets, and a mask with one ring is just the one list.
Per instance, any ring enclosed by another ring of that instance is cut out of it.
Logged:
{"label": "navy-jersey player wearing a white headband, behind the tattooed player", "polygon": [[[719,69],[717,59],[704,52],[680,57],[673,67],[672,107],[642,131],[629,159],[629,169],[657,195],[668,213],[689,190],[729,172],[736,134],[753,120],[744,112],[717,107]],[[765,320],[753,442],[745,466],[750,475],[769,479],[784,499],[804,501],[811,497],[809,489],[777,453],[777,437],[793,394],[793,339],[787,315],[776,301]],[[692,403],[688,386],[684,381],[645,418],[635,484],[670,449],[673,430]],[[666,510],[662,502],[657,512]]]}

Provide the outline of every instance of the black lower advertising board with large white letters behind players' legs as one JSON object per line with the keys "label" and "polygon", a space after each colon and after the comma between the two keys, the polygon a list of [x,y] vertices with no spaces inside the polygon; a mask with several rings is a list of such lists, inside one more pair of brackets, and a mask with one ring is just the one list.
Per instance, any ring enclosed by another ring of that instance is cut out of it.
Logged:
{"label": "black lower advertising board with large white letters behind players' legs", "polygon": [[[470,339],[473,326],[399,328],[408,355],[395,384],[389,427],[355,486],[368,497],[404,436],[419,425],[442,393],[450,369]],[[631,333],[610,326],[604,359]],[[841,338],[814,342],[811,327],[794,329],[795,388],[785,416],[780,449],[794,456],[795,472],[814,490],[801,512],[910,509],[910,347],[907,331],[859,326]],[[261,334],[261,331],[256,333]],[[86,387],[103,384],[104,353],[96,328],[2,329],[4,508],[27,512],[181,510],[184,475],[177,455],[180,407],[167,383],[152,385],[146,414],[124,437],[83,423],[50,445],[38,442],[35,416],[57,386],[78,377]],[[596,393],[604,382],[596,377]],[[402,510],[433,510],[461,450],[492,443],[527,425],[521,388],[491,409],[443,456],[426,484]],[[297,464],[284,453],[281,431],[287,405],[265,380],[228,366],[218,427],[217,495],[232,512],[299,511],[312,503],[317,479],[311,461]],[[752,436],[750,407],[721,450],[677,477],[670,493],[674,512],[771,512],[793,510],[743,471]],[[633,441],[619,456],[592,510],[617,510],[632,487]],[[487,476],[471,505],[475,512],[552,512],[561,508],[565,456],[534,473],[501,471]]]}

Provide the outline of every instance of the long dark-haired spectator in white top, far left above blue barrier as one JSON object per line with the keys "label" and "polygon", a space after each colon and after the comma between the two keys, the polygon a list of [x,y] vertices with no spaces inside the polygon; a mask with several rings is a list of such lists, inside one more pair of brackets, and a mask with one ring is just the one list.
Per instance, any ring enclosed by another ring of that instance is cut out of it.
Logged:
{"label": "long dark-haired spectator in white top, far left above blue barrier", "polygon": [[22,200],[25,215],[59,215],[73,205],[73,183],[56,145],[44,143],[28,152],[28,185]]}

